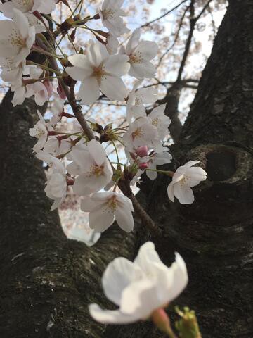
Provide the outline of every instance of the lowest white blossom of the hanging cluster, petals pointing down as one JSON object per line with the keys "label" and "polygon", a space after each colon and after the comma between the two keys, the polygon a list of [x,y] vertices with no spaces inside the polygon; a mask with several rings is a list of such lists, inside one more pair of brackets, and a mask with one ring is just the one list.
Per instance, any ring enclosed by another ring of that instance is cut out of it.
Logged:
{"label": "lowest white blossom of the hanging cluster, petals pointing down", "polygon": [[89,212],[89,226],[96,232],[103,232],[116,220],[126,232],[134,228],[133,204],[129,198],[117,192],[96,192],[84,197],[82,211]]}

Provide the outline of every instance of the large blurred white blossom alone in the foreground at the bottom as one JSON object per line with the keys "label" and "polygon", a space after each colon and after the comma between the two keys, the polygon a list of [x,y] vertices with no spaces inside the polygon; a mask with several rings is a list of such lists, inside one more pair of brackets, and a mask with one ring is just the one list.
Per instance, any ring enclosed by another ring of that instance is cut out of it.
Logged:
{"label": "large blurred white blossom alone in the foreground at the bottom", "polygon": [[186,264],[176,253],[176,261],[168,268],[160,260],[152,242],[141,246],[134,263],[116,258],[102,278],[105,296],[119,309],[103,310],[91,304],[91,316],[100,323],[127,324],[147,320],[154,311],[166,307],[188,283]]}

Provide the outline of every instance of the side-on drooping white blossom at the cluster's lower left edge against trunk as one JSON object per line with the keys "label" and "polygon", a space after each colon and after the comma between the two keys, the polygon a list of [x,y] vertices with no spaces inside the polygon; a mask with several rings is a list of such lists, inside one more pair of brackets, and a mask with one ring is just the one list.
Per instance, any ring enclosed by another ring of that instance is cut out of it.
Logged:
{"label": "side-on drooping white blossom at the cluster's lower left edge against trunk", "polygon": [[47,154],[45,151],[38,151],[37,158],[46,162],[52,170],[52,173],[46,181],[46,196],[53,199],[51,211],[58,208],[63,203],[67,195],[67,180],[65,165],[58,158]]}

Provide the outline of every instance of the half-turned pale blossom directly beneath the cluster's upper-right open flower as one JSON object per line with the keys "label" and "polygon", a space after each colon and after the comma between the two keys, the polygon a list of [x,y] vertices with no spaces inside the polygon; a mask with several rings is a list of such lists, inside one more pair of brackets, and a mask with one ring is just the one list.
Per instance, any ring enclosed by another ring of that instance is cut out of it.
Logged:
{"label": "half-turned pale blossom directly beneath the cluster's upper-right open flower", "polygon": [[129,123],[131,123],[132,118],[146,116],[145,104],[154,104],[157,101],[157,89],[151,87],[137,89],[141,82],[136,82],[129,93],[126,106],[126,120]]}

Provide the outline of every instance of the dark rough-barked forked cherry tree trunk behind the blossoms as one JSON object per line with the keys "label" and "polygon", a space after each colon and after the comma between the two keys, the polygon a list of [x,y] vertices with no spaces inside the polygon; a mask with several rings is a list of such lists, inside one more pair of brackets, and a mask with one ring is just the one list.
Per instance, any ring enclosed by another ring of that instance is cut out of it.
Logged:
{"label": "dark rough-barked forked cherry tree trunk behind the blossoms", "polygon": [[[207,170],[195,203],[169,203],[166,177],[142,186],[164,230],[153,239],[162,260],[169,264],[174,251],[186,260],[190,282],[177,303],[197,311],[203,338],[253,337],[252,19],[252,0],[229,1],[181,140],[171,149],[169,169],[200,159]],[[105,265],[133,257],[148,236],[112,229],[92,249],[65,239],[57,215],[45,212],[44,174],[30,152],[34,107],[13,109],[9,96],[0,107],[0,336],[163,337],[150,323],[104,327],[90,320],[88,303],[108,305],[99,284]]]}

